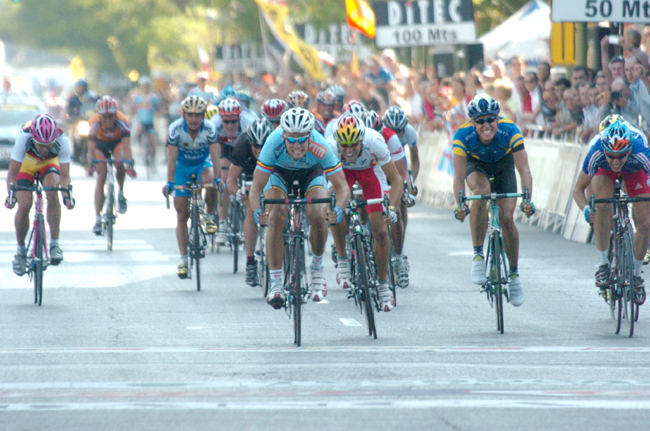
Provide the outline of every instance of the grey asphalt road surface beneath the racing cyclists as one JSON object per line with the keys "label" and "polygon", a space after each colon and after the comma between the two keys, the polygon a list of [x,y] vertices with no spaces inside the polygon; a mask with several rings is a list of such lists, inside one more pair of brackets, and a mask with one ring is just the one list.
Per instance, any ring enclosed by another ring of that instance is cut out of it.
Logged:
{"label": "grey asphalt road surface beneath the racing cyclists", "polygon": [[526,302],[507,305],[501,335],[469,280],[468,223],[418,204],[411,284],[377,316],[378,339],[327,258],[327,301],[304,309],[298,348],[287,314],[232,273],[229,250],[207,255],[201,292],[177,278],[162,172],[127,180],[111,252],[91,232],[93,180],[74,168],[73,181],[65,261],[47,269],[41,307],[11,270],[15,212],[0,208],[2,430],[636,430],[650,419],[650,312],[633,338],[614,334],[593,246],[520,226]]}

